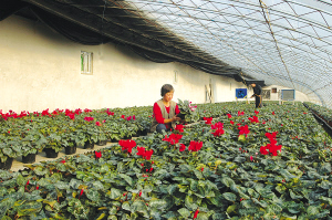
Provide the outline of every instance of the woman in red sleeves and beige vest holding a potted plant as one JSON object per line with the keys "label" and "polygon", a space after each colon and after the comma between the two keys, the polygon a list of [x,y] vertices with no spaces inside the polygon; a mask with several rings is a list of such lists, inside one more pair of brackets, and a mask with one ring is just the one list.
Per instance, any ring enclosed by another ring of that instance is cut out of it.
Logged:
{"label": "woman in red sleeves and beige vest holding a potted plant", "polygon": [[169,130],[175,128],[175,123],[180,121],[176,115],[180,113],[177,104],[172,101],[174,95],[174,88],[169,84],[165,84],[162,87],[163,98],[154,104],[154,117],[151,126],[151,132]]}

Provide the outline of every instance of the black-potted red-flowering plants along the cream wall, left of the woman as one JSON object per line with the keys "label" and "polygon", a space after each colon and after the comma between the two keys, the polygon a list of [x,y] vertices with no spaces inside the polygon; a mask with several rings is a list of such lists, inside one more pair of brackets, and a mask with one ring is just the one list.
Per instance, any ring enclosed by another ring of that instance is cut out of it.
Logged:
{"label": "black-potted red-flowering plants along the cream wall, left of the woman", "polygon": [[[115,108],[101,111],[53,111],[0,116],[0,158],[6,161],[22,156],[33,159],[38,151],[46,151],[48,157],[56,157],[64,147],[73,154],[77,146],[92,148],[94,144],[105,145],[106,140],[118,140],[146,134],[151,124],[149,107],[133,107],[129,111]],[[121,112],[121,113],[120,113]],[[125,116],[124,114],[135,115]],[[120,115],[122,114],[122,115]],[[28,159],[28,163],[31,160]],[[8,163],[7,163],[8,164]],[[1,164],[0,164],[1,166]]]}

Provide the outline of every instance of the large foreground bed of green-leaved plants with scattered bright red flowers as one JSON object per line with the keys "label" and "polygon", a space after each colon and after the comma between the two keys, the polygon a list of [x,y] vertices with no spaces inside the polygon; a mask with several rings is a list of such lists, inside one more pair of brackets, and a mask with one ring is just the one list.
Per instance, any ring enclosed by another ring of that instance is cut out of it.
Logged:
{"label": "large foreground bed of green-leaved plants with scattered bright red flowers", "polygon": [[307,108],[220,106],[189,128],[0,171],[0,218],[329,219],[332,140]]}

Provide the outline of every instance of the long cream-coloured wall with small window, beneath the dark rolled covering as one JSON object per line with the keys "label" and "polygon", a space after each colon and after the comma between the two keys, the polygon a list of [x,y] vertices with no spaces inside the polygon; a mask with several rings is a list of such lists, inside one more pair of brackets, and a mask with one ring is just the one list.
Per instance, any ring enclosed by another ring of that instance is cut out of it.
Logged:
{"label": "long cream-coloured wall with small window, beneath the dark rolled covering", "polygon": [[[74,43],[41,22],[15,15],[1,21],[0,30],[3,112],[153,105],[165,83],[174,85],[174,101],[205,103],[210,78],[214,101],[226,102],[235,101],[235,88],[245,87],[180,63],[144,60],[120,45]],[[81,51],[93,52],[93,75],[81,74]]]}

